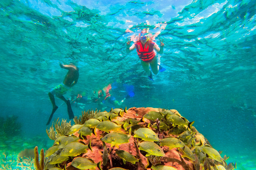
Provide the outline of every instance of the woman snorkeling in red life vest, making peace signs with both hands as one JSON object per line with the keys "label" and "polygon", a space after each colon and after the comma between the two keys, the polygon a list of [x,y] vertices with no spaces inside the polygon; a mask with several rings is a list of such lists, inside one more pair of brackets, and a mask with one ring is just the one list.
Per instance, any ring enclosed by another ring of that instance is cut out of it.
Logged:
{"label": "woman snorkeling in red life vest, making peace signs with both hands", "polygon": [[138,56],[141,61],[141,65],[143,69],[148,74],[149,79],[153,81],[152,73],[150,71],[149,65],[152,69],[152,72],[156,75],[158,71],[164,71],[165,69],[158,65],[157,63],[157,57],[154,49],[159,53],[163,53],[163,46],[164,46],[164,39],[162,41],[160,40],[160,48],[159,46],[149,39],[148,37],[148,31],[147,29],[143,29],[140,33],[140,39],[135,42],[131,47],[131,39],[127,38],[128,42],[126,42],[126,52],[129,53],[130,51],[134,50],[136,48]]}

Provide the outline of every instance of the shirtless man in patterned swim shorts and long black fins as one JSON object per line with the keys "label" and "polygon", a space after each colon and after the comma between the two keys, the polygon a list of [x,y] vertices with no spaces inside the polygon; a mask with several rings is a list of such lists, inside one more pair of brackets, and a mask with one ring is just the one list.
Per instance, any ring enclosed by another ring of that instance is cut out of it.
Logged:
{"label": "shirtless man in patterned swim shorts and long black fins", "polygon": [[52,114],[51,114],[46,125],[50,124],[53,114],[58,109],[58,106],[56,106],[56,104],[55,104],[54,95],[56,95],[58,98],[60,98],[67,104],[69,119],[74,118],[74,114],[73,114],[73,111],[72,111],[72,108],[70,105],[70,101],[66,100],[65,97],[63,96],[63,94],[66,94],[66,92],[77,83],[77,80],[79,77],[79,69],[74,64],[68,64],[68,65],[60,64],[60,67],[67,69],[68,73],[66,74],[66,76],[63,80],[63,83],[61,83],[60,85],[51,89],[50,92],[48,93],[50,100],[52,102],[53,109],[52,109]]}

